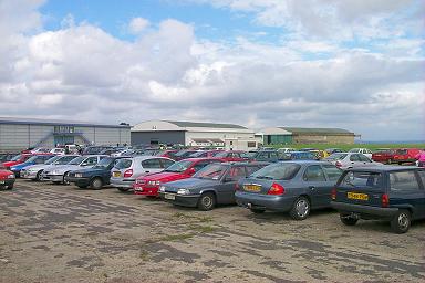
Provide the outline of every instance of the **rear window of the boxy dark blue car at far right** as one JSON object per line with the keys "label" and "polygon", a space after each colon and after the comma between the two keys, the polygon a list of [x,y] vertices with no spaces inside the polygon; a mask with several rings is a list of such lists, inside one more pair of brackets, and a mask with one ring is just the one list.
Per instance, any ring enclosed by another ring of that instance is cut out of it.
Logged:
{"label": "rear window of the boxy dark blue car at far right", "polygon": [[348,171],[338,186],[380,190],[383,189],[383,177],[381,172]]}

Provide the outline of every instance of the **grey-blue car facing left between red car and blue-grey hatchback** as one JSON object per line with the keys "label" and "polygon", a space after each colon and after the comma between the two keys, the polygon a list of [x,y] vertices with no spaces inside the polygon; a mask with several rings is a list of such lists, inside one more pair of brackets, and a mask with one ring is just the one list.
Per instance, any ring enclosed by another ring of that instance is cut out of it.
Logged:
{"label": "grey-blue car facing left between red car and blue-grey hatchback", "polygon": [[236,184],[262,166],[256,163],[211,164],[191,178],[162,185],[159,195],[176,206],[211,210],[219,203],[235,203]]}

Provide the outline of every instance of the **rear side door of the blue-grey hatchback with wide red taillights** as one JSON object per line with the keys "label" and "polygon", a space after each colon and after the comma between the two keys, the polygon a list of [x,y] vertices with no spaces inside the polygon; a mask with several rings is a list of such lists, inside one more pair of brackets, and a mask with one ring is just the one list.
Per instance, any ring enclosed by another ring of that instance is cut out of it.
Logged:
{"label": "rear side door of the blue-grey hatchback with wide red taillights", "polygon": [[330,202],[330,182],[320,165],[310,165],[302,176],[312,208],[326,207]]}

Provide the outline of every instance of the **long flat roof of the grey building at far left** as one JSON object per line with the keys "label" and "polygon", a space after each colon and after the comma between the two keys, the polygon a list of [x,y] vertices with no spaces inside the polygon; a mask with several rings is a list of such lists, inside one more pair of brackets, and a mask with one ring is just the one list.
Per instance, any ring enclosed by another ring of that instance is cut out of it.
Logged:
{"label": "long flat roof of the grey building at far left", "polygon": [[27,117],[0,117],[0,124],[12,125],[48,125],[48,126],[81,126],[81,127],[107,127],[107,128],[129,128],[129,125],[108,125],[81,120],[61,119],[40,119]]}

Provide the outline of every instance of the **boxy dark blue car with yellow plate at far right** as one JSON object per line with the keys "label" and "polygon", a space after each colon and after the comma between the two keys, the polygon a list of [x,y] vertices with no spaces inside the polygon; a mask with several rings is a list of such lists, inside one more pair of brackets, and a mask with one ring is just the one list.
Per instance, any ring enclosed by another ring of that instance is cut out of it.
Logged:
{"label": "boxy dark blue car with yellow plate at far right", "polygon": [[425,168],[381,166],[345,171],[332,192],[341,222],[386,220],[395,233],[405,233],[412,220],[425,218]]}

